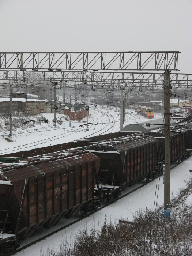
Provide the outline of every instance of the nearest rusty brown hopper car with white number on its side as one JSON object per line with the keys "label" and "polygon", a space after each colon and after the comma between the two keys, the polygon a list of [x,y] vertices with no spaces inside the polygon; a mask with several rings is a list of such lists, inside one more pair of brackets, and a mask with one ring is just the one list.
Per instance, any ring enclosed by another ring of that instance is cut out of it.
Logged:
{"label": "nearest rusty brown hopper car with white number on its side", "polygon": [[94,195],[99,165],[96,155],[77,150],[25,159],[15,166],[1,164],[0,255],[15,251],[39,227],[54,226],[85,205],[96,210],[101,201]]}

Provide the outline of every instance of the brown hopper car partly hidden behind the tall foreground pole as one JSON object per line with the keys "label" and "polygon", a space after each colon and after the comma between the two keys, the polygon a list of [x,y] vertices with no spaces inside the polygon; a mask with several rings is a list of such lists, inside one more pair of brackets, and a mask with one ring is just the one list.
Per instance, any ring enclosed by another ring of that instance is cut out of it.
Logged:
{"label": "brown hopper car partly hidden behind the tall foreground pole", "polygon": [[[159,146],[157,150],[157,158],[159,163],[165,162],[165,129],[155,129],[146,132],[145,134],[151,135],[158,139]],[[174,125],[170,127],[170,162],[181,162],[187,156],[187,130]]]}

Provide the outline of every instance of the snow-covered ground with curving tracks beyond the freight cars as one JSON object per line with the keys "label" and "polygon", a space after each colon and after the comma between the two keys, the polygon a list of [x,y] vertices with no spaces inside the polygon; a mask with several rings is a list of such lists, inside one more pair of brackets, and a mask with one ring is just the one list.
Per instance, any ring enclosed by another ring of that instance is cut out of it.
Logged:
{"label": "snow-covered ground with curving tracks beyond the freight cars", "polygon": [[[136,112],[132,114],[128,114],[128,112],[133,112],[133,110],[126,111],[124,125],[139,121],[149,121],[141,115],[135,116]],[[23,116],[14,116],[13,114],[11,138],[7,136],[9,135],[9,125],[5,125],[5,122],[8,122],[9,119],[5,120],[5,118],[0,117],[0,155],[67,143],[85,136],[96,136],[101,133],[106,134],[120,131],[120,110],[114,107],[90,107],[88,122],[95,125],[90,124],[89,131],[87,131],[87,125],[80,126],[87,123],[87,117],[81,122],[72,121],[70,126],[70,122],[65,120],[64,115],[57,114],[58,122],[56,122],[56,127],[54,127],[52,121],[54,114],[42,113],[39,116],[43,120],[41,125],[33,121],[22,124],[29,120],[37,120],[37,116],[24,118]],[[156,114],[154,118],[159,117],[162,117],[162,115]],[[48,123],[45,123],[44,119],[47,119]]]}

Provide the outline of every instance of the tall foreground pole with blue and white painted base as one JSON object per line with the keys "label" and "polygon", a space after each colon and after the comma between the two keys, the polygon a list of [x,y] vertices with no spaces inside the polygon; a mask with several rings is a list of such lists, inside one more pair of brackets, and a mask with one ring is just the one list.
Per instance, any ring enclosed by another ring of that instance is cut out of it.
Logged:
{"label": "tall foreground pole with blue and white painted base", "polygon": [[164,183],[164,217],[170,217],[170,71],[165,71],[165,183]]}

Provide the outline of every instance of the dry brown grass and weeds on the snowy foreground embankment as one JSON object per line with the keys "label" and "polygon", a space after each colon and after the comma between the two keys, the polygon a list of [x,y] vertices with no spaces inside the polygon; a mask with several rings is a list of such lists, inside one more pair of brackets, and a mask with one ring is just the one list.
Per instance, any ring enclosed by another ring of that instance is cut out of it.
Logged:
{"label": "dry brown grass and weeds on the snowy foreground embankment", "polygon": [[[70,256],[191,256],[192,255],[192,203],[185,198],[192,192],[192,181],[173,199],[171,218],[163,217],[163,208],[153,212],[139,211],[133,217],[134,225],[107,224],[100,230],[79,231],[72,239],[61,243],[61,252],[52,247],[47,255]],[[179,206],[182,207],[180,208]]]}

